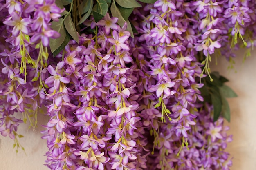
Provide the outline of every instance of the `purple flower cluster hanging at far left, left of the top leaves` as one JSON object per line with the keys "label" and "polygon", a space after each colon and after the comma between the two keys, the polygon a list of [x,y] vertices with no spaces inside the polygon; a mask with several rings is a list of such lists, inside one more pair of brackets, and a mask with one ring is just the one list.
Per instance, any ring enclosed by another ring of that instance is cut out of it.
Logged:
{"label": "purple flower cluster hanging at far left, left of the top leaves", "polygon": [[[1,1],[1,124],[2,135],[15,139],[19,147],[16,119],[21,112],[26,123],[35,126],[38,110],[45,100],[43,79],[48,60],[49,38],[59,33],[50,27],[61,16],[52,0]],[[33,119],[34,117],[34,119]]]}

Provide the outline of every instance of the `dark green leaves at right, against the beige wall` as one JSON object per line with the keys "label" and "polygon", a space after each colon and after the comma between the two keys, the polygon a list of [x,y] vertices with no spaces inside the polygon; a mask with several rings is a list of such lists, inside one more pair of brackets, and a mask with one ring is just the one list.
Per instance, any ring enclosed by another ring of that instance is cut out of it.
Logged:
{"label": "dark green leaves at right, against the beige wall", "polygon": [[217,121],[220,115],[227,121],[230,121],[230,108],[226,98],[237,97],[236,93],[224,83],[228,80],[217,72],[211,73],[210,77],[204,77],[200,88],[204,102],[213,104],[213,121]]}

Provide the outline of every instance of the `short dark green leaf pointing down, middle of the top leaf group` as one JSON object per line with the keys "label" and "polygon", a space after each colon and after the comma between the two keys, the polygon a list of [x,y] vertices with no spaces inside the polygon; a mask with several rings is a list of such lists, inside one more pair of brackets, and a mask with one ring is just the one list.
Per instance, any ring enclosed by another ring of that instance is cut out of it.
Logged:
{"label": "short dark green leaf pointing down, middle of the top leaf group", "polygon": [[95,22],[99,22],[108,12],[108,4],[105,0],[97,0],[97,4],[92,8]]}

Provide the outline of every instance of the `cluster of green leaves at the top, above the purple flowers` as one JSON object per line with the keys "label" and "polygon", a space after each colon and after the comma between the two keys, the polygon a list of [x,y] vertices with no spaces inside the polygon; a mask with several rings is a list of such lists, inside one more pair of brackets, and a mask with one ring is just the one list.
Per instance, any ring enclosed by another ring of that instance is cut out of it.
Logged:
{"label": "cluster of green leaves at the top, above the purple flowers", "polygon": [[[78,3],[79,1],[79,3]],[[156,0],[138,0],[144,3],[152,4]],[[70,39],[79,41],[77,29],[78,26],[85,22],[90,15],[93,15],[95,22],[99,22],[107,12],[111,13],[113,17],[117,17],[118,24],[123,26],[127,23],[127,31],[137,33],[135,27],[128,20],[134,8],[141,7],[141,4],[136,0],[56,0],[56,5],[61,9],[65,9],[61,13],[61,18],[58,22],[52,22],[52,29],[61,34],[57,39],[50,40],[50,49],[54,56],[60,53]],[[77,10],[76,15],[72,11]],[[76,18],[79,20],[76,22]],[[91,30],[92,31],[92,30]]]}

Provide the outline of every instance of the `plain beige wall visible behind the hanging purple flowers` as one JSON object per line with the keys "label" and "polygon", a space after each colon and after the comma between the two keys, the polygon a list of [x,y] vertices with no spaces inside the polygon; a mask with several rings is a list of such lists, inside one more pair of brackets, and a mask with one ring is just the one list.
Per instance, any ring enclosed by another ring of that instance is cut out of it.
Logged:
{"label": "plain beige wall visible behind the hanging purple flowers", "polygon": [[[231,108],[231,123],[229,134],[233,134],[234,141],[228,144],[228,152],[233,158],[231,170],[256,170],[256,52],[242,63],[243,52],[235,58],[234,70],[227,70],[228,62],[225,58],[218,58],[218,65],[212,59],[212,71],[219,71],[230,81],[230,86],[239,97],[228,99]],[[235,72],[236,71],[236,72]],[[0,135],[0,170],[48,170],[43,156],[47,151],[46,141],[41,139],[40,131],[44,128],[40,124],[47,124],[47,118],[38,115],[36,132],[27,130],[27,125],[19,126],[18,132],[24,135],[20,143],[25,147],[16,154],[12,148],[13,140]]]}

